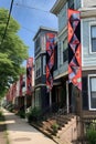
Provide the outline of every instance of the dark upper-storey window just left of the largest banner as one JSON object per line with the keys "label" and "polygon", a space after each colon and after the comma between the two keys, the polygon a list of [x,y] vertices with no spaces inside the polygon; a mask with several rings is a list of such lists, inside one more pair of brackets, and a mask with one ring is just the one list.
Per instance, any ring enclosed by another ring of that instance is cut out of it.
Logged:
{"label": "dark upper-storey window just left of the largest banner", "polygon": [[67,39],[63,41],[63,62],[68,60]]}

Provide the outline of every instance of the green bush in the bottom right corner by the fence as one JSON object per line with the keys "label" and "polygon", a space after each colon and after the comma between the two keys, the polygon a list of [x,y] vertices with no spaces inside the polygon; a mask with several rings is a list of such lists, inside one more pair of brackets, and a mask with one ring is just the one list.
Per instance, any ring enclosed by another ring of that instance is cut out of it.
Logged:
{"label": "green bush in the bottom right corner by the fence", "polygon": [[86,136],[89,144],[96,144],[96,130],[87,130]]}

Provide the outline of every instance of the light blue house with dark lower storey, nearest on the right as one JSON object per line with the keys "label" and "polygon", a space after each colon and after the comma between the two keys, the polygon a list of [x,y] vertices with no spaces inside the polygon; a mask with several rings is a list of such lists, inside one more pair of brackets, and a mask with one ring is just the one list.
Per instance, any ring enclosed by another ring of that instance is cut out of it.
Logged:
{"label": "light blue house with dark lower storey, nearest on the right", "polygon": [[[68,40],[67,10],[81,12],[82,48],[82,92],[74,84],[68,84]],[[57,70],[54,71],[56,94],[67,107],[67,112],[92,115],[96,112],[96,1],[56,0],[51,9],[58,19]]]}

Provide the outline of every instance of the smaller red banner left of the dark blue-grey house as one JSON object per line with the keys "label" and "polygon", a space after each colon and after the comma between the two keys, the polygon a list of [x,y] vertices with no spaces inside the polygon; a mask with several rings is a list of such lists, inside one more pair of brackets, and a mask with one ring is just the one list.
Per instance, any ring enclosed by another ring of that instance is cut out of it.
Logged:
{"label": "smaller red banner left of the dark blue-grey house", "polygon": [[31,95],[32,92],[32,68],[33,68],[33,58],[26,60],[26,94]]}

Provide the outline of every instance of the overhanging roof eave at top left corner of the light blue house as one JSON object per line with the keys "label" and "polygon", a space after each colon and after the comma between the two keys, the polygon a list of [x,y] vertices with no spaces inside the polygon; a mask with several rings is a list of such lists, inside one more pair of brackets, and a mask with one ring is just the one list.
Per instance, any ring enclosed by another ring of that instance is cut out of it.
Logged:
{"label": "overhanging roof eave at top left corner of the light blue house", "polygon": [[63,8],[65,2],[66,2],[66,0],[56,0],[56,2],[54,3],[54,6],[50,10],[50,12],[54,13],[55,16],[57,16],[58,11]]}

